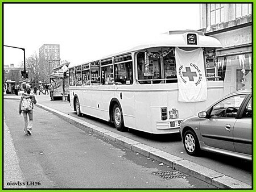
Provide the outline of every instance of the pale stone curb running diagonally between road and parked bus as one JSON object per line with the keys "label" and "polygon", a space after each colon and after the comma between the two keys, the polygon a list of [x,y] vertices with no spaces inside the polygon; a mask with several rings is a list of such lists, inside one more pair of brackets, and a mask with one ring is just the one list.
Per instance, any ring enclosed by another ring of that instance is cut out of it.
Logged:
{"label": "pale stone curb running diagonally between road and parked bus", "polygon": [[[20,99],[17,95],[4,95],[4,99]],[[36,106],[44,108],[47,111],[51,111],[53,114],[67,120],[67,122],[76,124],[82,128],[86,128],[89,131],[104,136],[105,138],[121,144],[124,147],[131,149],[132,151],[141,153],[144,156],[153,158],[159,162],[163,162],[166,165],[171,166],[173,169],[179,170],[190,176],[199,178],[207,183],[218,188],[226,189],[251,189],[251,186],[241,181],[235,180],[229,176],[225,176],[222,173],[218,173],[212,169],[206,168],[194,162],[185,160],[183,158],[171,155],[170,153],[161,151],[160,149],[153,148],[151,146],[139,143],[138,141],[131,140],[128,137],[119,135],[104,128],[95,126],[79,118],[75,118],[69,115],[71,108],[67,101],[50,101],[49,95],[37,95],[38,103]]]}

